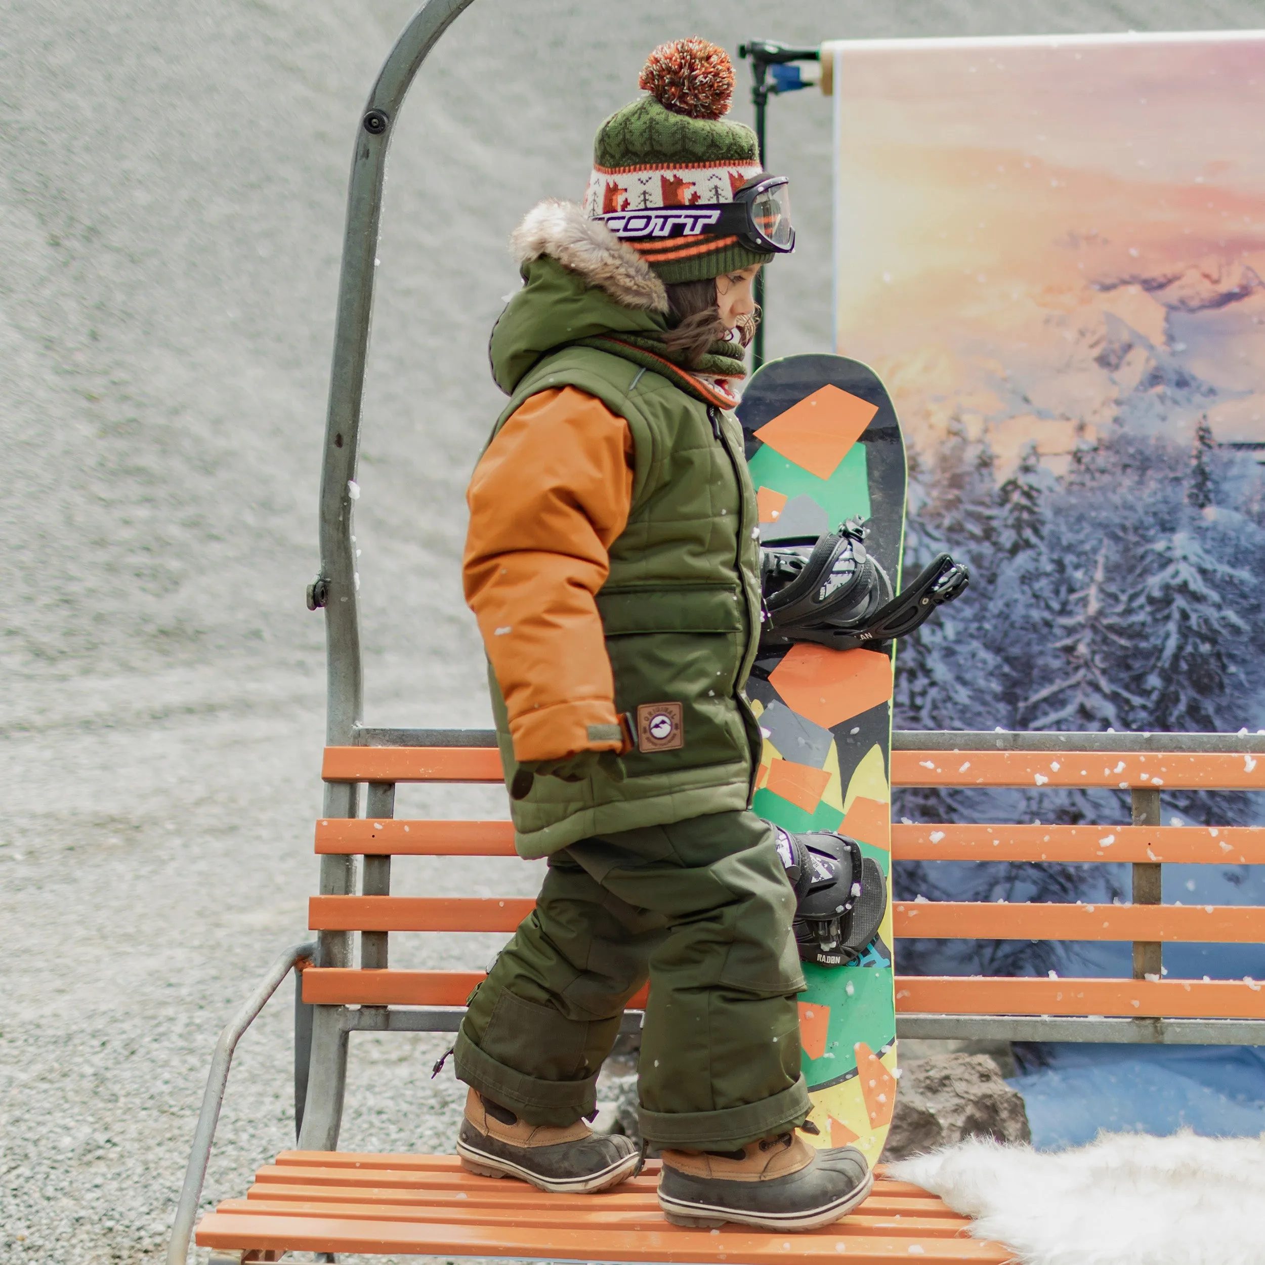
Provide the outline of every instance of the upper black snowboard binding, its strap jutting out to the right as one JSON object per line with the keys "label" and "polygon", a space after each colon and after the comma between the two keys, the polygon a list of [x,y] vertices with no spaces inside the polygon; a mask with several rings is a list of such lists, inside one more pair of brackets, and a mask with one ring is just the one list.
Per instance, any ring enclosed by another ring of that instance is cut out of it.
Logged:
{"label": "upper black snowboard binding, its strap jutting out to the right", "polygon": [[893,596],[891,578],[864,540],[861,520],[849,519],[816,541],[762,548],[763,649],[797,641],[835,650],[882,645],[921,627],[970,582],[966,568],[942,553]]}

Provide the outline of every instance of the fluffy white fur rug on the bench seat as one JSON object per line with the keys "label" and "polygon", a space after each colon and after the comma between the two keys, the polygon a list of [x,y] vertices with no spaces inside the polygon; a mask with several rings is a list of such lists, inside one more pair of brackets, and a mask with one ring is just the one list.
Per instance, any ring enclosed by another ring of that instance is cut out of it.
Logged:
{"label": "fluffy white fur rug on the bench seat", "polygon": [[1265,1265],[1265,1135],[1104,1133],[1074,1151],[972,1138],[888,1173],[1023,1265]]}

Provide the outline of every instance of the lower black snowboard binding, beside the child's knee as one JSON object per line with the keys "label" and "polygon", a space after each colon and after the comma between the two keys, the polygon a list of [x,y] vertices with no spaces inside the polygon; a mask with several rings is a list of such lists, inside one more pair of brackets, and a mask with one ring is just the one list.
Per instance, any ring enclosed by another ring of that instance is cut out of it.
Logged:
{"label": "lower black snowboard binding, beside the child's knee", "polygon": [[887,912],[887,880],[846,835],[792,835],[775,826],[778,856],[796,894],[796,947],[803,961],[844,966],[874,942]]}

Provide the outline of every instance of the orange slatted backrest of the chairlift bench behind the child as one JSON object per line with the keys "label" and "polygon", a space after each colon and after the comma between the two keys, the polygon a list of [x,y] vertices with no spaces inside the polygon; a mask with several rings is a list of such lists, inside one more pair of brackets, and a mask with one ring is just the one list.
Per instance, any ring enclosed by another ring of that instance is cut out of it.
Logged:
{"label": "orange slatted backrest of the chairlift bench behind the child", "polygon": [[[975,737],[977,735],[972,735]],[[1246,744],[1245,744],[1246,745]],[[333,746],[326,782],[498,783],[495,746]],[[1128,791],[1133,818],[1117,825],[892,826],[896,860],[1123,861],[1135,867],[1132,904],[897,902],[897,939],[1128,941],[1135,978],[897,977],[897,1011],[955,1016],[1117,1016],[1123,1018],[1265,1020],[1265,987],[1251,980],[1161,979],[1160,945],[1265,942],[1265,908],[1160,903],[1164,863],[1265,864],[1265,827],[1161,826],[1163,789],[1265,789],[1265,753],[893,750],[893,787],[1045,787]],[[385,797],[390,799],[390,796]],[[383,797],[378,797],[383,802]],[[323,818],[320,854],[512,856],[505,821]],[[1138,882],[1141,879],[1141,883]],[[310,926],[361,931],[369,951],[361,968],[309,968],[304,998],[323,1004],[460,1006],[478,972],[391,970],[386,935],[396,931],[512,931],[530,899],[316,896]],[[1152,965],[1155,969],[1146,969]],[[632,1006],[644,1002],[644,994]]]}

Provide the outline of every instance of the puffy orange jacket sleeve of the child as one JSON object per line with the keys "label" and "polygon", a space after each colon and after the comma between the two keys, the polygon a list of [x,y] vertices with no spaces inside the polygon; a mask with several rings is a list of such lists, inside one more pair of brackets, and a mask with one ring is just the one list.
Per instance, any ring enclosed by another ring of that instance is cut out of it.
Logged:
{"label": "puffy orange jacket sleeve of the child", "polygon": [[510,716],[519,760],[620,750],[615,682],[595,595],[632,503],[627,423],[576,387],[541,391],[488,444],[466,493],[466,601]]}

